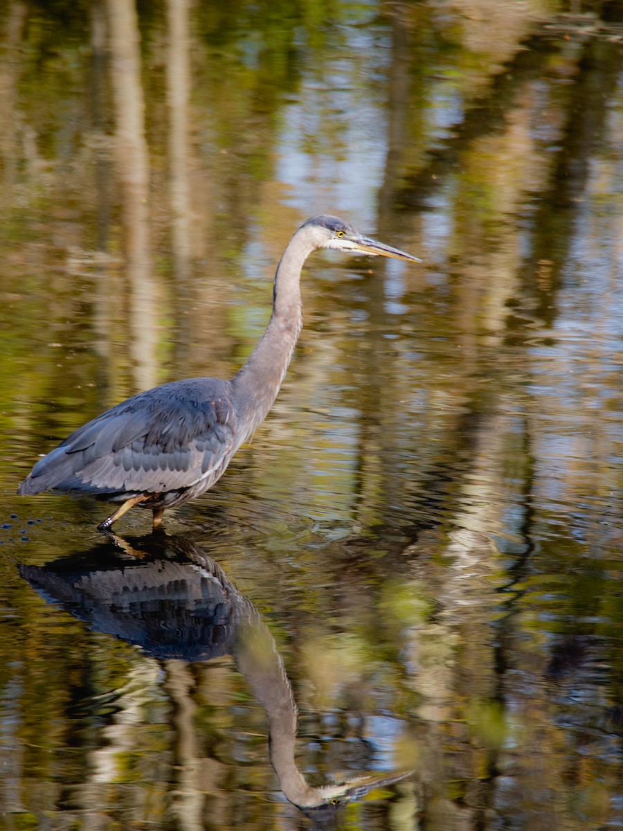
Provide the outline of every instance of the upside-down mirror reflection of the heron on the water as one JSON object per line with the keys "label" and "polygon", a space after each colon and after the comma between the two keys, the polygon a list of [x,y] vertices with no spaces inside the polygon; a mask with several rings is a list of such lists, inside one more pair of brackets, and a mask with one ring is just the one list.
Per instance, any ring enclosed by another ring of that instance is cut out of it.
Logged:
{"label": "upside-down mirror reflection of the heron on the water", "polygon": [[231,655],[267,713],[273,769],[286,798],[316,821],[408,772],[312,785],[297,768],[298,712],[282,657],[258,609],[199,545],[159,532],[116,551],[45,566],[20,566],[22,578],[97,632],[135,644],[161,661]]}

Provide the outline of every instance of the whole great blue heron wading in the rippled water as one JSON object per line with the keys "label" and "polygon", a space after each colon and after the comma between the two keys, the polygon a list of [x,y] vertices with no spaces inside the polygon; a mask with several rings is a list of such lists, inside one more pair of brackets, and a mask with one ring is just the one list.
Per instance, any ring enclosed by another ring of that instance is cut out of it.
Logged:
{"label": "whole great blue heron wading in the rippled water", "polygon": [[134,505],[150,508],[158,528],[165,508],[203,494],[277,397],[302,327],[303,263],[318,248],[419,263],[411,254],[358,234],[335,216],[307,219],[277,266],[266,332],[231,381],[187,378],[122,401],[38,461],[17,493],[57,490],[120,502],[97,526],[101,531]]}

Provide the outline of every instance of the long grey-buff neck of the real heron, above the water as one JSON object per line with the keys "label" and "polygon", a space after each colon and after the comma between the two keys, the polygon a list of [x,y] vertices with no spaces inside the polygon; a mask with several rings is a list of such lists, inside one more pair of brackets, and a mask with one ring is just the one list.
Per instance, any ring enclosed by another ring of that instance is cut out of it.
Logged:
{"label": "long grey-buff neck of the real heron, above the water", "polygon": [[[232,386],[247,435],[262,423],[282,386],[302,327],[300,277],[303,263],[316,248],[298,231],[287,245],[275,274],[272,316]],[[246,438],[246,436],[245,436]]]}

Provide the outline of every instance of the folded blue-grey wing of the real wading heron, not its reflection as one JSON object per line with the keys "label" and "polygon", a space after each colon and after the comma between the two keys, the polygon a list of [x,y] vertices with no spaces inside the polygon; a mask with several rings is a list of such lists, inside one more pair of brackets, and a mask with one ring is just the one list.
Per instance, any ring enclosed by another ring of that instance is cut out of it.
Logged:
{"label": "folded blue-grey wing of the real wading heron, not its reflection", "polygon": [[162,493],[214,481],[238,446],[236,428],[227,381],[165,384],[72,433],[37,462],[22,493]]}

